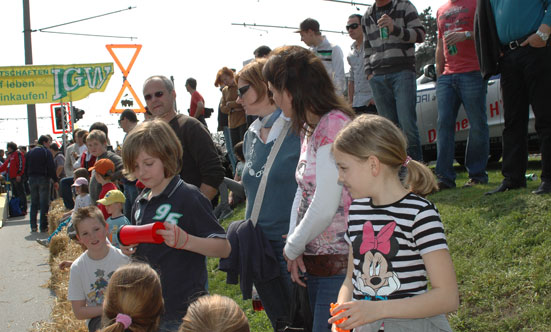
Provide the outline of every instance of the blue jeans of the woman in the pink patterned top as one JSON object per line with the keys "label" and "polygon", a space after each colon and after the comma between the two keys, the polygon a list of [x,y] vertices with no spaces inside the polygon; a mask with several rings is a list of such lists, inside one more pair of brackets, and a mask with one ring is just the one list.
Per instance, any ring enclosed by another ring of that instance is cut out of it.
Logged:
{"label": "blue jeans of the woman in the pink patterned top", "polygon": [[331,303],[337,302],[339,291],[344,277],[346,275],[339,274],[330,277],[316,277],[307,274],[306,285],[308,288],[308,296],[310,300],[310,308],[314,317],[314,331],[322,332],[330,331],[331,325],[327,323],[331,314],[329,310]]}

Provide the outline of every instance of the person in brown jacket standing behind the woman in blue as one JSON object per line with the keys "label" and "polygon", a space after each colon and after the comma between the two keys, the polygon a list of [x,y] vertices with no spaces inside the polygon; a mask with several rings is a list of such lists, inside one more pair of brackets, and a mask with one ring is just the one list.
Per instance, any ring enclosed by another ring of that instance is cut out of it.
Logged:
{"label": "person in brown jacket standing behind the woman in blue", "polygon": [[220,111],[228,115],[228,127],[231,137],[230,146],[233,147],[243,140],[245,131],[247,131],[247,119],[245,118],[243,107],[236,102],[237,86],[235,85],[236,82],[233,71],[228,67],[224,67],[220,69],[220,71],[220,80],[225,85],[222,89],[222,104],[220,105]]}

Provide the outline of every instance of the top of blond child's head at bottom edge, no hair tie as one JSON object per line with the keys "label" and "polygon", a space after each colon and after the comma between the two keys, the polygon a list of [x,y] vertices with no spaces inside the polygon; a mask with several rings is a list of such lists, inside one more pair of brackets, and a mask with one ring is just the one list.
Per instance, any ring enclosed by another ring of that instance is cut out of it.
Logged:
{"label": "top of blond child's head at bottom edge, no hair tie", "polygon": [[247,316],[234,300],[221,295],[201,296],[187,309],[178,332],[249,332]]}

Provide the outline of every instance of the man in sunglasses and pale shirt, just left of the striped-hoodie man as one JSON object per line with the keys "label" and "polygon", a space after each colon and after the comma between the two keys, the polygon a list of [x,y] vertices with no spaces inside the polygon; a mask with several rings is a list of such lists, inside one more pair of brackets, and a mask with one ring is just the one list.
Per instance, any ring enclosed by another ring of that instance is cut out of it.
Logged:
{"label": "man in sunglasses and pale shirt, just left of the striped-hoodie man", "polygon": [[346,57],[350,65],[348,73],[348,102],[354,108],[356,114],[377,114],[375,100],[371,87],[364,72],[364,34],[362,31],[362,15],[353,14],[348,17],[346,31],[354,40],[350,47],[350,53]]}

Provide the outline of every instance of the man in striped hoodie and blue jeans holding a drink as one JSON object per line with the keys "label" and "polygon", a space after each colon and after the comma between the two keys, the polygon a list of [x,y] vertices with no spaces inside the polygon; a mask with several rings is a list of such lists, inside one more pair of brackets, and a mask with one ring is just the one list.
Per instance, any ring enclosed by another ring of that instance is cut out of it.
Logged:
{"label": "man in striped hoodie and blue jeans holding a drink", "polygon": [[376,0],[362,18],[365,74],[377,111],[396,123],[408,140],[408,155],[422,161],[415,106],[415,43],[425,39],[415,6],[404,0]]}

